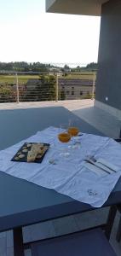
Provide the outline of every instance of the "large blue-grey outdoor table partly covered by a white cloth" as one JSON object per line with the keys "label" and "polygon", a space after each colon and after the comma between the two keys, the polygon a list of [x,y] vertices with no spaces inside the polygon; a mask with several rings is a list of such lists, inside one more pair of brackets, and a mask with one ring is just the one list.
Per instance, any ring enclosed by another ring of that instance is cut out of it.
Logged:
{"label": "large blue-grey outdoor table partly covered by a white cloth", "polygon": [[[84,122],[83,119],[79,119],[66,108],[3,110],[0,112],[0,149],[18,143],[51,124],[55,126],[68,124],[69,119],[74,122],[75,119],[78,120],[76,125],[80,131],[102,136],[100,131]],[[21,124],[25,125],[24,131],[21,129]],[[105,206],[115,206],[120,202],[121,179]],[[0,231],[14,230],[15,256],[22,255],[22,226],[89,210],[93,210],[93,207],[74,201],[66,195],[60,195],[52,189],[45,189],[0,172]]]}

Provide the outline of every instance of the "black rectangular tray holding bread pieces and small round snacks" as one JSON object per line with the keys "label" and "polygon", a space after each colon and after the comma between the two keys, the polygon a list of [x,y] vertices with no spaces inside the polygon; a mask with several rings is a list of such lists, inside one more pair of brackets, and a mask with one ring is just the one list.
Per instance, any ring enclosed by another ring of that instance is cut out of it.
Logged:
{"label": "black rectangular tray holding bread pieces and small round snacks", "polygon": [[[28,144],[30,145],[30,147],[27,147]],[[28,151],[31,150],[32,144],[40,144],[40,143],[24,143],[23,146],[17,151],[17,153],[14,154],[14,157],[12,158],[11,161],[27,162],[27,154],[28,154]],[[27,163],[41,163],[42,162],[44,155],[47,153],[47,151],[49,149],[49,144],[48,143],[41,143],[41,144],[43,144],[43,149],[44,149],[43,154],[40,154],[40,157],[38,159],[36,159],[34,162],[27,162]],[[23,152],[24,149],[27,149],[27,152]],[[25,155],[23,158],[19,158],[20,152],[21,152],[21,154]],[[16,159],[16,158],[18,158],[18,159]]]}

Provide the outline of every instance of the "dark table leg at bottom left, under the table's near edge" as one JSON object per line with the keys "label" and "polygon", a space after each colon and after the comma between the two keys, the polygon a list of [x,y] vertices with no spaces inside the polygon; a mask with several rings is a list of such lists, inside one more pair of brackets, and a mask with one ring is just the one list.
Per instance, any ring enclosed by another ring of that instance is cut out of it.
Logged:
{"label": "dark table leg at bottom left, under the table's near edge", "polygon": [[22,228],[16,228],[14,233],[14,256],[24,256]]}

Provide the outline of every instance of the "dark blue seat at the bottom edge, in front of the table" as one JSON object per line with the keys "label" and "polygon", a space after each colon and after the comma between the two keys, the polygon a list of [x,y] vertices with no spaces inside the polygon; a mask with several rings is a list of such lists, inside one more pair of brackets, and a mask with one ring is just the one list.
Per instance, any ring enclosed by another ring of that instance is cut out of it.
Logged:
{"label": "dark blue seat at the bottom edge, in front of the table", "polygon": [[32,256],[116,256],[101,229],[32,243]]}

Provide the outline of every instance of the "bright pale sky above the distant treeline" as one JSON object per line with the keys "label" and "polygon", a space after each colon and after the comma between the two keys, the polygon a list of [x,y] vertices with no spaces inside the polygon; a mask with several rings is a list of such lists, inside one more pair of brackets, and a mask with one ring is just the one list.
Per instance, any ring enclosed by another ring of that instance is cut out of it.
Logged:
{"label": "bright pale sky above the distant treeline", "polygon": [[45,0],[0,0],[0,32],[0,61],[97,61],[100,17],[49,14]]}

